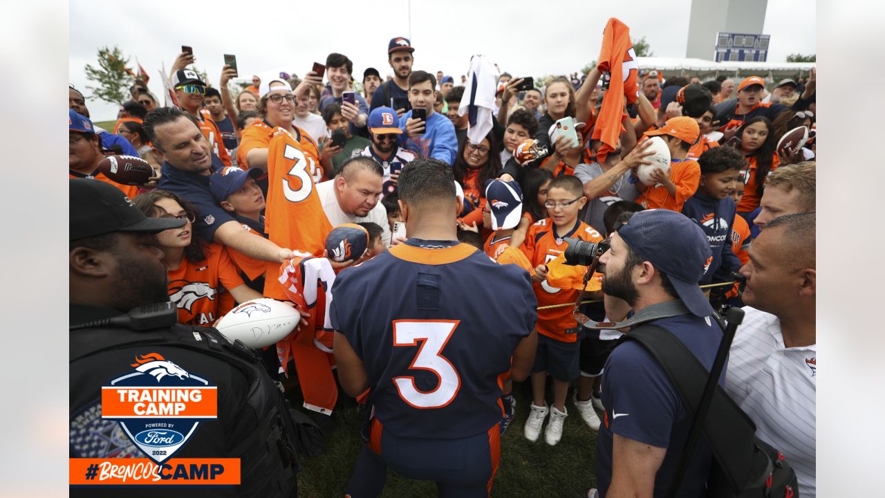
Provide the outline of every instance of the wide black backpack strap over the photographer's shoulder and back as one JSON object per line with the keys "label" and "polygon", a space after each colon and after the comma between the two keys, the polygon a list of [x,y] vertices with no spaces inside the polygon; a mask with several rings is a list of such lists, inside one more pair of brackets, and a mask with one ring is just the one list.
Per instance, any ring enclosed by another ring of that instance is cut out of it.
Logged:
{"label": "wide black backpack strap over the photographer's shoulder and back", "polygon": [[[689,348],[670,331],[650,324],[629,331],[620,338],[620,341],[625,340],[633,340],[642,345],[658,361],[679,393],[681,401],[696,415],[710,372]],[[713,457],[735,490],[762,484],[756,482],[759,473],[758,468],[753,465],[756,425],[718,383],[709,411],[702,422],[701,432]],[[683,459],[687,461],[689,456],[683,455]]]}

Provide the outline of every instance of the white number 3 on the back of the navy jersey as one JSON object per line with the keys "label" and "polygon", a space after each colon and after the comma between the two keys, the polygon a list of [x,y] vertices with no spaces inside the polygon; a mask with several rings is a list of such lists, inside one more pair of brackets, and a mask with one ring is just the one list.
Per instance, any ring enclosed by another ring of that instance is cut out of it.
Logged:
{"label": "white number 3 on the back of the navy jersey", "polygon": [[415,385],[415,377],[394,377],[396,391],[403,401],[416,409],[438,409],[448,405],[458,394],[461,377],[458,370],[440,354],[452,333],[458,328],[458,320],[395,320],[393,323],[394,346],[417,346],[418,354],[412,360],[410,369],[430,370],[439,377],[439,384],[433,391],[420,391]]}

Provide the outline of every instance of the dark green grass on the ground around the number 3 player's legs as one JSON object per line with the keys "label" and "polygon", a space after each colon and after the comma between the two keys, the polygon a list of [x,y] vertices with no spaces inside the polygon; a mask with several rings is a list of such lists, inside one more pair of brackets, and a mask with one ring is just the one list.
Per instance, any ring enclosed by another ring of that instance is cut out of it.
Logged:
{"label": "dark green grass on the ground around the number 3 player's legs", "polygon": [[[569,416],[563,437],[555,447],[543,441],[543,432],[535,443],[522,435],[531,401],[528,381],[514,385],[513,393],[517,400],[516,418],[501,441],[501,463],[492,486],[492,496],[586,496],[587,490],[596,486],[596,432],[584,424],[572,404],[571,393],[570,401],[566,402]],[[300,407],[301,400],[297,399],[300,393],[295,389],[291,394],[293,402]],[[299,496],[344,495],[344,486],[350,479],[360,450],[360,412],[354,408],[336,409],[333,419],[336,426],[326,435],[325,452],[312,459],[302,458],[303,469],[298,474]],[[388,471],[387,484],[381,494],[388,498],[436,495],[434,483],[403,479],[392,471]]]}

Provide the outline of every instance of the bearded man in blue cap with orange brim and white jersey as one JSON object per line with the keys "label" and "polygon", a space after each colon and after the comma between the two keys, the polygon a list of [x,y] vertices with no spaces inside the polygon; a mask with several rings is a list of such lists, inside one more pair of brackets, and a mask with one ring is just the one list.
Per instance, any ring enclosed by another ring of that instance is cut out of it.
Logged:
{"label": "bearded man in blue cap with orange brim and white jersey", "polygon": [[358,155],[378,161],[381,169],[384,170],[381,196],[396,193],[396,181],[400,172],[417,157],[414,152],[396,144],[397,139],[403,133],[403,130],[396,126],[396,121],[396,112],[390,107],[381,106],[373,109],[369,114],[368,125],[372,144],[358,153]]}

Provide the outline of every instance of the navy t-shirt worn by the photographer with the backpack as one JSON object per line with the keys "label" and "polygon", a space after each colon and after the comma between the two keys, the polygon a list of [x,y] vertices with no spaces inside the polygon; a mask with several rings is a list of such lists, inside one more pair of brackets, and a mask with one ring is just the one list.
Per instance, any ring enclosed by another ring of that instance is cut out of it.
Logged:
{"label": "navy t-shirt worn by the photographer with the backpack", "polygon": [[[679,338],[709,370],[722,340],[722,330],[712,317],[679,315],[655,320]],[[720,385],[725,379],[725,370]],[[614,434],[653,447],[667,448],[664,462],[655,477],[654,496],[665,496],[673,473],[689,437],[691,411],[675,387],[643,346],[633,341],[614,348],[605,362],[602,380],[605,407],[603,424],[596,439],[596,485],[604,496],[612,484],[612,444]],[[710,475],[712,455],[704,438],[699,438],[678,496],[704,496],[704,483]]]}

